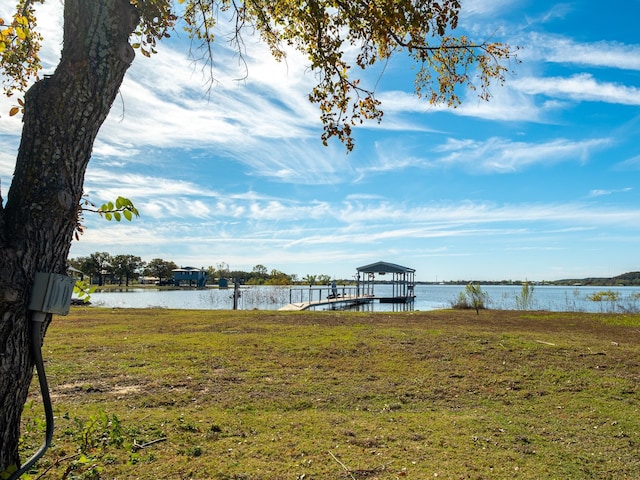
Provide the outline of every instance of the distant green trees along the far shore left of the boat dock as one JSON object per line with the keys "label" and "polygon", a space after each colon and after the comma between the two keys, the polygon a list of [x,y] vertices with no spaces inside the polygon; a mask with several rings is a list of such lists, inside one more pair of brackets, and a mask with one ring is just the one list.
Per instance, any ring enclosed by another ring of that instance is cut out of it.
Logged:
{"label": "distant green trees along the far shore left of the boat dock", "polygon": [[[70,258],[68,265],[78,270],[77,274],[91,284],[118,284],[127,287],[132,283],[140,283],[142,277],[152,278],[161,285],[168,283],[173,277],[173,270],[179,268],[172,260],[154,258],[146,262],[136,255],[111,255],[108,252],[94,252],[86,257]],[[313,286],[328,285],[332,281],[330,275],[307,274],[299,278],[296,274],[288,274],[277,269],[269,270],[262,264],[254,266],[250,272],[230,270],[229,265],[224,262],[217,266],[203,267],[203,270],[207,272],[209,282],[227,278],[244,285]]]}

